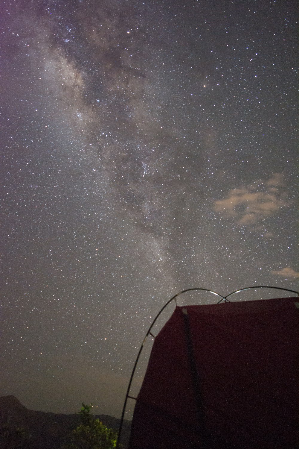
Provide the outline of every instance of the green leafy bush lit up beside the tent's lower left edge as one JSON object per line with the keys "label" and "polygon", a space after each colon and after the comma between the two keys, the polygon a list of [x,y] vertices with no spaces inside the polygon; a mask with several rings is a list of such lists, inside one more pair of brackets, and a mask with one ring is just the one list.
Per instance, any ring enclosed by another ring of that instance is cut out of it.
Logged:
{"label": "green leafy bush lit up beside the tent's lower left edge", "polygon": [[90,405],[82,402],[78,415],[81,424],[73,431],[70,442],[62,446],[62,449],[113,449],[116,447],[117,433],[108,429],[100,419],[95,419],[91,414]]}

